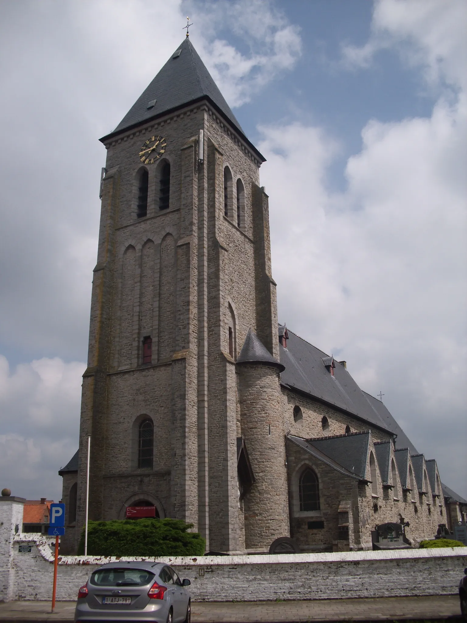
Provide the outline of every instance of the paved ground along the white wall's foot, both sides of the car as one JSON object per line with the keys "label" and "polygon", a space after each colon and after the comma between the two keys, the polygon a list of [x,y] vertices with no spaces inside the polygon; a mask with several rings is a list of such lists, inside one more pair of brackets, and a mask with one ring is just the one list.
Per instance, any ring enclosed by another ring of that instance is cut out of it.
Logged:
{"label": "paved ground along the white wall's foot, both sides of the car", "polygon": [[[11,601],[0,604],[0,621],[6,623],[73,621],[75,603]],[[344,621],[446,621],[460,620],[459,597],[379,597],[377,599],[326,599],[316,601],[194,602],[192,623],[300,623]]]}

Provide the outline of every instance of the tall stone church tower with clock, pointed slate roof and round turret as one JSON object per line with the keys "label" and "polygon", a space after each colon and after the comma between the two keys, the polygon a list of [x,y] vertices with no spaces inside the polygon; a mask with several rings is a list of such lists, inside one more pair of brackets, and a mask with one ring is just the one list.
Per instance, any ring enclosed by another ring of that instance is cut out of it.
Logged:
{"label": "tall stone church tower with clock, pointed slate roof and round turret", "polygon": [[84,523],[90,435],[90,520],[154,505],[193,523],[211,551],[264,548],[289,533],[264,158],[188,38],[101,142],[76,521],[64,546],[75,548]]}

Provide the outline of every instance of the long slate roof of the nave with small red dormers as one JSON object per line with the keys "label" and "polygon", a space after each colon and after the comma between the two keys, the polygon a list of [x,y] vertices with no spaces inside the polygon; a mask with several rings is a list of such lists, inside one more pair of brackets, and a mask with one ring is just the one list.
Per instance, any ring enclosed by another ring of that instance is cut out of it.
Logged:
{"label": "long slate roof of the nave with small red dormers", "polygon": [[279,346],[280,361],[285,366],[281,373],[283,386],[309,394],[331,407],[335,406],[364,422],[388,430],[398,435],[396,447],[407,445],[417,453],[384,404],[362,391],[343,364],[334,359],[336,368],[334,376],[331,376],[323,362],[323,359],[329,358],[327,353],[289,329],[288,335],[287,348]]}

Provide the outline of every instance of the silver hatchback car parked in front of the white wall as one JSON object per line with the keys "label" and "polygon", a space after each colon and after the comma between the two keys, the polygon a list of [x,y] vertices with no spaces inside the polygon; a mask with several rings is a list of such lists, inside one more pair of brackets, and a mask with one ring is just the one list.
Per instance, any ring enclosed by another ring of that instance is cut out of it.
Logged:
{"label": "silver hatchback car parked in front of the white wall", "polygon": [[78,592],[75,621],[190,623],[191,596],[163,563],[108,563]]}

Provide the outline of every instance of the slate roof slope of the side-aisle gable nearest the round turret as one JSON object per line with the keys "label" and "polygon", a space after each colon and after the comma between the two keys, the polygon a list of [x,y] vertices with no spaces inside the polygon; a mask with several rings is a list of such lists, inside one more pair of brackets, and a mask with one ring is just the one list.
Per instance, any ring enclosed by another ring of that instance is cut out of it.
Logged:
{"label": "slate roof slope of the side-aisle gable nearest the round turret", "polygon": [[307,439],[307,442],[345,467],[349,473],[356,475],[360,480],[365,480],[369,440],[370,433],[366,431],[330,437],[313,437],[313,439]]}

